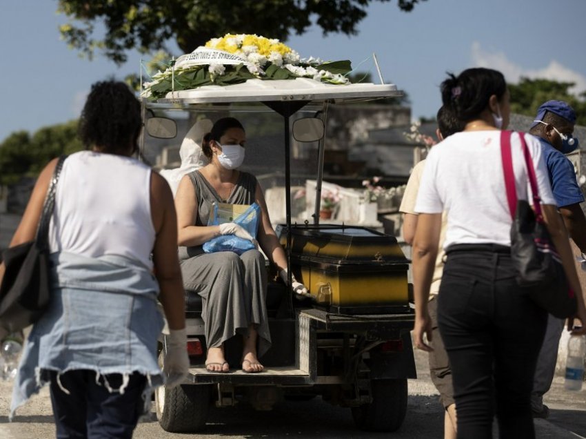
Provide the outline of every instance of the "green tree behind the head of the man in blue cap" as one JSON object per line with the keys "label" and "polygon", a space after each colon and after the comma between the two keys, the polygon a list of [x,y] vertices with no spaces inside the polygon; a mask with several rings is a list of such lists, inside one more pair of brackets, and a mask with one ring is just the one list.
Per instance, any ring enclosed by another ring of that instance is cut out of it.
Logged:
{"label": "green tree behind the head of the man in blue cap", "polygon": [[558,82],[551,79],[521,78],[518,84],[509,84],[511,111],[520,115],[535,116],[537,108],[551,99],[566,101],[576,111],[576,124],[586,125],[586,92],[572,95],[572,82]]}

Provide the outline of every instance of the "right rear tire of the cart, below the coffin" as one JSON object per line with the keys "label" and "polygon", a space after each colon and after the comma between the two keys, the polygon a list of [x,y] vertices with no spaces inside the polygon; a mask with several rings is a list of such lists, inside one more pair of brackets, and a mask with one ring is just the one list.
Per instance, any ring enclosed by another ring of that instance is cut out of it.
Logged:
{"label": "right rear tire of the cart, below the coffin", "polygon": [[356,427],[366,431],[395,431],[407,412],[407,380],[371,380],[372,402],[352,407]]}

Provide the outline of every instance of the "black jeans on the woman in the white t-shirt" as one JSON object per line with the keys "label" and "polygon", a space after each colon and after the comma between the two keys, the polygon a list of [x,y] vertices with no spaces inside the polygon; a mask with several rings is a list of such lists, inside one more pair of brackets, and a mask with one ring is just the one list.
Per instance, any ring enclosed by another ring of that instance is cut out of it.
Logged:
{"label": "black jeans on the woman in the white t-shirt", "polygon": [[458,438],[492,438],[495,409],[501,438],[534,438],[530,396],[547,313],[517,285],[508,247],[456,247],[443,270],[438,324]]}

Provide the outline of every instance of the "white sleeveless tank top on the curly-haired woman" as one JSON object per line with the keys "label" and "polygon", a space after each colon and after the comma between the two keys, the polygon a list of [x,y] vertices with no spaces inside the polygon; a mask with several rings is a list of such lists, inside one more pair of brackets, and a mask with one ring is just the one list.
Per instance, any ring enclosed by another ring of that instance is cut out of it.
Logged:
{"label": "white sleeveless tank top on the curly-haired woman", "polygon": [[70,155],[57,184],[50,251],[123,256],[152,269],[150,174],[150,167],[130,157]]}

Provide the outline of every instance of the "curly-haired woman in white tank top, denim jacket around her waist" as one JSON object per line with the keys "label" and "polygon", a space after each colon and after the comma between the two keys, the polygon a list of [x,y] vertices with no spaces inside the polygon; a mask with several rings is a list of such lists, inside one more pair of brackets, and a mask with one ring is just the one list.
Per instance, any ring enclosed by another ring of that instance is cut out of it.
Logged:
{"label": "curly-haired woman in white tank top, denim jacket around her waist", "polygon": [[[10,416],[49,382],[59,438],[132,437],[163,384],[157,297],[170,329],[167,385],[187,373],[176,214],[163,177],[132,157],[141,127],[128,86],[94,84],[79,124],[88,150],[65,160],[57,184],[50,304],[28,336]],[[41,172],[10,246],[33,239],[56,162]]]}

